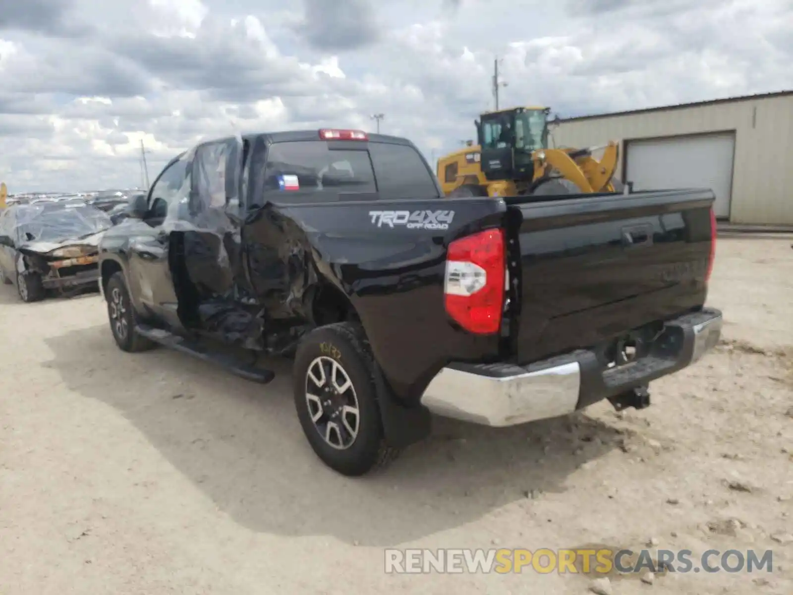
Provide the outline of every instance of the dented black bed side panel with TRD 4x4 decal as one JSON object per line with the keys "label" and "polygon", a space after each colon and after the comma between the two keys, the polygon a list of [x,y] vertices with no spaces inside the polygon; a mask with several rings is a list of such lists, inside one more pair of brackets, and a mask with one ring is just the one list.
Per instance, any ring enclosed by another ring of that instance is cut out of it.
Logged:
{"label": "dented black bed side panel with TRD 4x4 decal", "polygon": [[435,212],[431,201],[267,205],[244,233],[251,278],[266,296],[267,312],[280,305],[280,316],[313,323],[324,296],[331,307],[340,296],[347,319],[366,329],[385,379],[405,401],[419,397],[451,358],[497,356],[500,336],[472,336],[449,324],[443,278],[449,239],[500,223],[504,208],[496,201],[447,200],[458,219],[438,230],[376,221],[383,209]]}

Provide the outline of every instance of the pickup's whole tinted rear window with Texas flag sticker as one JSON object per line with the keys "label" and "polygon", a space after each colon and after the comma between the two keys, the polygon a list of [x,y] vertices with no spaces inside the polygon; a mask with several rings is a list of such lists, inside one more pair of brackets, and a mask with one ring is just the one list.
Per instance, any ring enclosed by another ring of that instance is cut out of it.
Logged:
{"label": "pickup's whole tinted rear window with Texas flag sticker", "polygon": [[415,148],[386,143],[369,143],[368,148],[331,149],[317,141],[272,144],[264,194],[300,202],[439,198],[435,178]]}

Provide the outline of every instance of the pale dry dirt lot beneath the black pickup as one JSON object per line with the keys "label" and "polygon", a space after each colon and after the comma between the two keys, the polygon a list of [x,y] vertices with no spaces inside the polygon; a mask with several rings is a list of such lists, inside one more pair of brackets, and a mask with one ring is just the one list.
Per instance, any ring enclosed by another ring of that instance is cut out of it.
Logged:
{"label": "pale dry dirt lot beneath the black pickup", "polygon": [[0,286],[0,593],[586,593],[580,574],[387,575],[383,549],[650,539],[772,548],[778,569],[615,576],[617,595],[793,593],[791,241],[719,241],[724,342],[649,409],[438,420],[358,481],[310,451],[287,362],[262,387],[124,354],[98,296],[25,305]]}

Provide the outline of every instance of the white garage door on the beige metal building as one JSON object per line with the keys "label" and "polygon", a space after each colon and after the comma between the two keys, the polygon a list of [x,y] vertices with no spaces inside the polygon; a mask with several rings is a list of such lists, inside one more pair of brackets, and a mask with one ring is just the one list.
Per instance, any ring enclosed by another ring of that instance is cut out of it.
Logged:
{"label": "white garage door on the beige metal building", "polygon": [[634,190],[710,188],[716,217],[730,217],[734,132],[629,140],[626,177]]}

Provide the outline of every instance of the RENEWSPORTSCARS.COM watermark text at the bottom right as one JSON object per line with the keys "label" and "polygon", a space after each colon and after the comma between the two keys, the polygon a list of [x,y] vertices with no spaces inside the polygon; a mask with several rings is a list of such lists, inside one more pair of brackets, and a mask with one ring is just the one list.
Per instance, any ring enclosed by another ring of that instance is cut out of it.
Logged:
{"label": "RENEWSPORTSCARS.COM watermark text at the bottom right", "polygon": [[601,549],[387,549],[387,574],[754,573],[773,570],[773,551]]}

